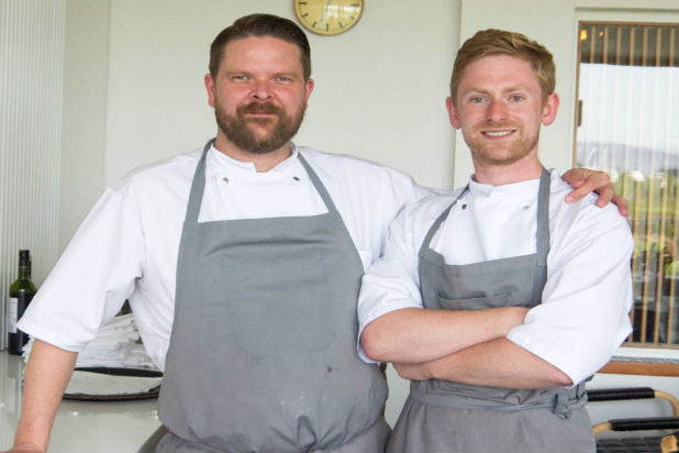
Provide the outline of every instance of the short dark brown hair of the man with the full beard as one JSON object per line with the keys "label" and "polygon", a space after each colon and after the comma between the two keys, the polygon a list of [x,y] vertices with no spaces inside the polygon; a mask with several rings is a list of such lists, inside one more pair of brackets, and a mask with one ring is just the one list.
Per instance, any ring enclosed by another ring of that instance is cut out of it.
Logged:
{"label": "short dark brown hair of the man with the full beard", "polygon": [[216,77],[220,69],[226,44],[249,36],[271,36],[296,44],[300,49],[304,80],[309,80],[311,76],[311,49],[307,35],[291,20],[274,14],[244,15],[216,35],[210,46],[210,75],[212,78]]}

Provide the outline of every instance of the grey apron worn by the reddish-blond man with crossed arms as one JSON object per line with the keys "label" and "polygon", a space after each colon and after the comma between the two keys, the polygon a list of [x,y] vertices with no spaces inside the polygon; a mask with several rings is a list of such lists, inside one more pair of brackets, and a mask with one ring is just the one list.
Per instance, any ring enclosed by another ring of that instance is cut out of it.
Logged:
{"label": "grey apron worn by the reddish-blond man with crossed arms", "polygon": [[[541,303],[549,252],[549,174],[543,169],[539,180],[536,253],[532,255],[446,265],[430,243],[453,206],[434,222],[420,250],[424,307],[469,310]],[[442,379],[411,382],[387,451],[594,452],[586,400],[583,384],[512,389]]]}

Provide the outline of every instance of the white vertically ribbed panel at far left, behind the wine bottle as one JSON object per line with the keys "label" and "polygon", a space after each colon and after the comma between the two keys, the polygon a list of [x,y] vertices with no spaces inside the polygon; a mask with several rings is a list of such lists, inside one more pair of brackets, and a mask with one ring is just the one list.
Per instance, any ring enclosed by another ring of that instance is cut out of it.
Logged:
{"label": "white vertically ribbed panel at far left, behind the wine bottle", "polygon": [[0,347],[18,251],[56,262],[65,0],[0,1]]}

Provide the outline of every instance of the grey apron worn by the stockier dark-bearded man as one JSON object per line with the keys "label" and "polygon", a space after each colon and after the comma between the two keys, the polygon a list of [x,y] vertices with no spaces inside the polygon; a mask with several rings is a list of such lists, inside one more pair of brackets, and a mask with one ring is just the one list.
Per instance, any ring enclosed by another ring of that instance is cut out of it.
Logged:
{"label": "grey apron worn by the stockier dark-bearded man", "polygon": [[327,213],[198,222],[205,145],[177,263],[157,452],[383,451],[386,382],[356,353],[363,264]]}

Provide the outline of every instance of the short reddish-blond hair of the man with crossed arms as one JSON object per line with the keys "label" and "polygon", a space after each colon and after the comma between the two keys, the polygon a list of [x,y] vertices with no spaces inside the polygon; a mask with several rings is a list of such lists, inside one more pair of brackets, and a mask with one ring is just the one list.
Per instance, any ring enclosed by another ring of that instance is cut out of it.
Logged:
{"label": "short reddish-blond hair of the man with crossed arms", "polygon": [[457,51],[453,76],[450,77],[450,97],[456,102],[457,87],[463,73],[474,62],[492,55],[509,55],[531,64],[542,89],[543,102],[554,92],[556,68],[552,54],[542,44],[528,40],[521,33],[488,29],[477,32]]}

